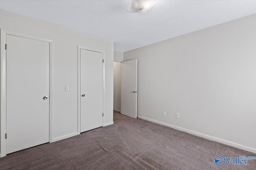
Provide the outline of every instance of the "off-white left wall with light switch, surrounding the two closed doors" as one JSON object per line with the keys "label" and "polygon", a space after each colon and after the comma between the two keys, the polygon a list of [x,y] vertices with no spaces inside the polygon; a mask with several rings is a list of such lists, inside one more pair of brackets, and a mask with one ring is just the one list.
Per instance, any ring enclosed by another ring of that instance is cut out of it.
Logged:
{"label": "off-white left wall with light switch, surrounding the two closed doors", "polygon": [[[0,10],[0,28],[52,39],[53,59],[53,138],[58,140],[78,132],[77,45],[105,51],[105,125],[113,123],[113,59],[114,44],[103,39],[78,33]],[[64,86],[70,91],[65,92]]]}

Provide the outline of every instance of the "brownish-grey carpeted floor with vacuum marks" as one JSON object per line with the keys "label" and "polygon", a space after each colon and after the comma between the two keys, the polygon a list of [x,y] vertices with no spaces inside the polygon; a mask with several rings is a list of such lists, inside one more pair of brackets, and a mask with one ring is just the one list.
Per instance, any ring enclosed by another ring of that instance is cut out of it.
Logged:
{"label": "brownish-grey carpeted floor with vacuum marks", "polygon": [[218,167],[219,154],[256,155],[114,112],[114,125],[8,154],[0,158],[0,169],[256,170],[256,160]]}

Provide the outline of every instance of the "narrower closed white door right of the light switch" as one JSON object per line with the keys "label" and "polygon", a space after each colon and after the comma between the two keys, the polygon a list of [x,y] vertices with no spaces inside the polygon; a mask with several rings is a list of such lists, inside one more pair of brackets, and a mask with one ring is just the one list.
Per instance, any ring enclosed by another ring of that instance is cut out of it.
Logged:
{"label": "narrower closed white door right of the light switch", "polygon": [[81,133],[103,125],[103,53],[80,49]]}

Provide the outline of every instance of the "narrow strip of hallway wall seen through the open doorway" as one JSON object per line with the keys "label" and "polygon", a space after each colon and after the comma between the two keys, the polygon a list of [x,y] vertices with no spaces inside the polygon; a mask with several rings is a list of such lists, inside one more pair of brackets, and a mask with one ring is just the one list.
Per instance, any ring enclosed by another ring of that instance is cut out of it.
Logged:
{"label": "narrow strip of hallway wall seen through the open doorway", "polygon": [[114,109],[118,111],[121,111],[121,67],[121,63],[114,62]]}

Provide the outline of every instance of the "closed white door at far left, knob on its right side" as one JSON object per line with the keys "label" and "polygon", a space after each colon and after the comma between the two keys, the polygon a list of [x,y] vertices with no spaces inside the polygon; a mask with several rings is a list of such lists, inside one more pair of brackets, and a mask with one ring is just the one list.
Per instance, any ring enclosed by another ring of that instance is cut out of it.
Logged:
{"label": "closed white door at far left, knob on its right side", "polygon": [[49,142],[49,43],[6,35],[6,153]]}

